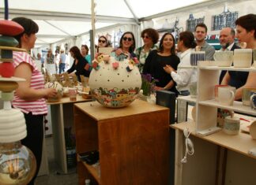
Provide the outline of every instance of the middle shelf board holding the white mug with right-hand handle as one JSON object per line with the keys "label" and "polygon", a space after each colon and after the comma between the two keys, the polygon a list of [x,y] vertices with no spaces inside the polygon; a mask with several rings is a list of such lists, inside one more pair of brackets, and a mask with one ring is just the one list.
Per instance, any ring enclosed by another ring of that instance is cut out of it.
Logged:
{"label": "middle shelf board holding the white mug with right-hand handle", "polygon": [[199,105],[209,105],[209,106],[213,106],[213,107],[221,108],[221,109],[230,109],[230,110],[234,110],[235,112],[247,113],[247,114],[256,116],[256,111],[254,109],[251,109],[250,106],[243,105],[242,102],[234,101],[233,105],[221,105],[215,99],[211,99],[211,100],[205,100],[205,101],[198,102],[198,104]]}

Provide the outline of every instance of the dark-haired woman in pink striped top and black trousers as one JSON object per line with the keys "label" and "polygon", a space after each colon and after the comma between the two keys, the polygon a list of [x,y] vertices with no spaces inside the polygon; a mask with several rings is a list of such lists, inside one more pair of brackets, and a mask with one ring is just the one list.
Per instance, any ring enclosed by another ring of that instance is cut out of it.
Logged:
{"label": "dark-haired woman in pink striped top and black trousers", "polygon": [[[24,32],[15,36],[15,39],[19,42],[19,47],[28,52],[35,45],[38,25],[24,17],[14,18],[13,21],[24,28]],[[43,116],[47,114],[45,98],[55,97],[57,92],[53,88],[44,89],[43,75],[27,52],[13,52],[14,76],[23,78],[25,81],[19,82],[12,105],[16,109],[21,109],[26,120],[27,137],[22,139],[21,143],[28,146],[36,157],[36,174],[28,183],[34,184],[42,158]]]}

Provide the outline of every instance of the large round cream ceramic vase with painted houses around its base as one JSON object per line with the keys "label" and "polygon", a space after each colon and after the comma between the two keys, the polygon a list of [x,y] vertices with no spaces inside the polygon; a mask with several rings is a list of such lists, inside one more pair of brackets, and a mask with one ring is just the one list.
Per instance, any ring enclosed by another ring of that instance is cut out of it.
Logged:
{"label": "large round cream ceramic vase with painted houses around its base", "polygon": [[[97,63],[97,64],[96,64]],[[94,61],[88,84],[92,96],[101,105],[120,108],[130,105],[141,89],[141,74],[133,60],[110,57]]]}

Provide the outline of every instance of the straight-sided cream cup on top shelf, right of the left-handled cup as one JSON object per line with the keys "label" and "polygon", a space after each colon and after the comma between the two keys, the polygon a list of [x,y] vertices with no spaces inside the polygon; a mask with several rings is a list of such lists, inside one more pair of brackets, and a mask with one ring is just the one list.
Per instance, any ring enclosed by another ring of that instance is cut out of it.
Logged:
{"label": "straight-sided cream cup on top shelf, right of the left-handled cup", "polygon": [[234,50],[234,67],[235,68],[250,68],[252,61],[251,49],[235,49]]}

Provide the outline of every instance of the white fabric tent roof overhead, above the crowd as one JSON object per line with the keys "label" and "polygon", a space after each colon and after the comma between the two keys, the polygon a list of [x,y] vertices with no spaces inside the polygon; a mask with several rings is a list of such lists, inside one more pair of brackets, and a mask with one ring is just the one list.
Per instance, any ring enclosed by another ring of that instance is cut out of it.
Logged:
{"label": "white fabric tent roof overhead, above the crowd", "polygon": [[[137,24],[138,20],[207,0],[94,0],[96,29],[115,24]],[[28,17],[39,24],[37,43],[50,44],[88,33],[91,25],[91,0],[10,0],[9,18]],[[1,19],[4,1],[0,1]]]}

